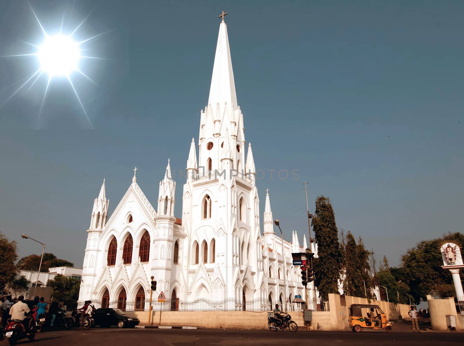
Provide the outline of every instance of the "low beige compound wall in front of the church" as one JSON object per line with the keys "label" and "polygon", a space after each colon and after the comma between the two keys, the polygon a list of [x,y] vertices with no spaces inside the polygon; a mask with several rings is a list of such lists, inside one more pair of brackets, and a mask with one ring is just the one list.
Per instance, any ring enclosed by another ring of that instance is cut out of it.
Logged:
{"label": "low beige compound wall in front of the church", "polygon": [[[405,304],[393,304],[364,298],[345,296],[345,305],[341,297],[329,295],[330,311],[313,311],[311,329],[346,330],[348,329],[348,308],[351,304],[374,304],[387,314],[387,319],[395,321],[404,318],[409,311]],[[197,326],[217,329],[267,329],[267,311],[154,311],[152,325],[161,326]],[[148,323],[147,311],[127,312],[140,319],[141,324]],[[302,311],[289,311],[292,320],[299,328],[304,328]]]}

